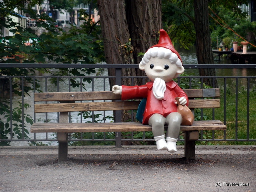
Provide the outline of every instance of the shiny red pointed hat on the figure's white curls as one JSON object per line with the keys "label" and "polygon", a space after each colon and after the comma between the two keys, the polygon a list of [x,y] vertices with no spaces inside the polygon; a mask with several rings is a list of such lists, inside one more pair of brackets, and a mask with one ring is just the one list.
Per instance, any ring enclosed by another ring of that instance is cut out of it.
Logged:
{"label": "shiny red pointed hat on the figure's white curls", "polygon": [[[150,48],[153,48],[153,47],[164,47],[166,49],[170,49],[173,53],[177,54],[178,58],[181,60],[180,54],[174,48],[170,37],[168,36],[168,34],[166,33],[166,31],[164,29],[160,29],[160,37],[159,37],[158,44],[156,44]],[[181,62],[182,62],[182,60],[181,60]]]}

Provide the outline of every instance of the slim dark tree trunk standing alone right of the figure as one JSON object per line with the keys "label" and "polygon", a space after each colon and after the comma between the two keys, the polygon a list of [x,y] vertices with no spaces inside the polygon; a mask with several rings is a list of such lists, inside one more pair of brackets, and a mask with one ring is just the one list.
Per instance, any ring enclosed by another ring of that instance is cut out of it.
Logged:
{"label": "slim dark tree trunk standing alone right of the figure", "polygon": [[[209,27],[208,0],[194,0],[196,56],[198,64],[214,64]],[[199,69],[200,76],[216,76],[215,69]],[[217,80],[204,78],[203,82],[213,88],[218,87]]]}

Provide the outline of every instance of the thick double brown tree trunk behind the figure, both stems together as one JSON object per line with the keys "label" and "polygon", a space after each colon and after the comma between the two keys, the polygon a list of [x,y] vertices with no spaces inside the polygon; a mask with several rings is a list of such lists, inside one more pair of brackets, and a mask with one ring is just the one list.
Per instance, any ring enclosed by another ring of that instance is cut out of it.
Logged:
{"label": "thick double brown tree trunk behind the figure, both stems together", "polygon": [[[98,0],[98,7],[107,63],[139,64],[138,53],[146,52],[158,42],[162,25],[161,0]],[[115,76],[115,69],[109,69],[108,74]],[[145,73],[139,69],[122,69],[122,76],[142,75]],[[122,85],[141,83],[139,79],[122,79]],[[110,90],[115,84],[115,79],[110,79]],[[122,121],[130,119],[131,115],[123,111]]]}

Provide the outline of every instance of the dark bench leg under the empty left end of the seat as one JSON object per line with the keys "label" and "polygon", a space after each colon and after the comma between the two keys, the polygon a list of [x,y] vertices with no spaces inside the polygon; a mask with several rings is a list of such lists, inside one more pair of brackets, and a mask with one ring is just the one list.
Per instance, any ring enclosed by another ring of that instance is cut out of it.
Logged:
{"label": "dark bench leg under the empty left end of the seat", "polygon": [[59,142],[58,162],[67,161],[67,133],[58,132],[57,139]]}

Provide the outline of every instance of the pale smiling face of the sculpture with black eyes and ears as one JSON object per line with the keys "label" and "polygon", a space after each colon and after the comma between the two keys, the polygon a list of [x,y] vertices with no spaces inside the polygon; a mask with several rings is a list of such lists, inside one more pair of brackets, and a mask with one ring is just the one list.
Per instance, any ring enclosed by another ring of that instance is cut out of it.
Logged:
{"label": "pale smiling face of the sculpture with black eyes and ears", "polygon": [[165,82],[172,81],[184,72],[184,67],[172,64],[169,59],[151,57],[146,65],[139,65],[140,70],[145,71],[147,77],[154,81],[157,77]]}

